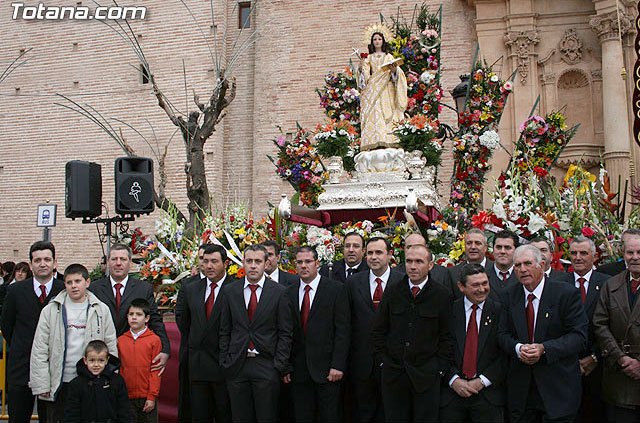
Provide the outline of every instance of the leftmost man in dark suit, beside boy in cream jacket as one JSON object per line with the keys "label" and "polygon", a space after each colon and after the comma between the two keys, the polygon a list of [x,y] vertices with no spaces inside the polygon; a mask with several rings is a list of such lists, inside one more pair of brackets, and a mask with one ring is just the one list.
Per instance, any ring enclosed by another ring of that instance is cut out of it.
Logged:
{"label": "leftmost man in dark suit, beside boy in cream jacket", "polygon": [[[7,341],[7,388],[9,421],[28,423],[33,412],[34,396],[29,388],[31,344],[40,312],[49,300],[64,289],[54,279],[56,250],[50,242],[37,241],[29,249],[33,277],[11,284],[2,309],[2,336]],[[43,404],[42,404],[43,405]],[[38,400],[38,410],[44,410]],[[40,413],[44,418],[44,413]]]}

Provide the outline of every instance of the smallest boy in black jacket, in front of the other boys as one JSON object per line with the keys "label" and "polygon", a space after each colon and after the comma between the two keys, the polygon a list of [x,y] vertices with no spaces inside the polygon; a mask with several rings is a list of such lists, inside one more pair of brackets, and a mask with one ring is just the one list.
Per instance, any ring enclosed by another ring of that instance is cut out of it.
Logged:
{"label": "smallest boy in black jacket, in front of the other boys", "polygon": [[114,371],[118,359],[109,355],[107,344],[91,341],[78,362],[78,377],[69,383],[65,423],[129,423],[131,410],[127,388]]}

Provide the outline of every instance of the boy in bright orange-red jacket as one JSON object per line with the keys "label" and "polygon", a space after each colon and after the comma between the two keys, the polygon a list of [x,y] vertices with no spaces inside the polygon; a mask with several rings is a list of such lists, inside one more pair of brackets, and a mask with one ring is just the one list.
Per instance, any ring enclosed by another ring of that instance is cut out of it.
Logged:
{"label": "boy in bright orange-red jacket", "polygon": [[122,365],[120,374],[129,392],[138,423],[157,423],[156,400],[160,394],[160,372],[151,371],[153,359],[162,351],[160,337],[147,327],[151,306],[144,298],[131,301],[127,310],[129,330],[118,337]]}

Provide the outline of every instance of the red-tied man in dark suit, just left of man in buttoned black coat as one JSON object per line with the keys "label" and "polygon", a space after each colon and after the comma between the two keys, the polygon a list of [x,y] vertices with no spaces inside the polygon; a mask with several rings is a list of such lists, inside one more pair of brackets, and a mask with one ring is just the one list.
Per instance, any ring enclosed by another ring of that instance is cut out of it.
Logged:
{"label": "red-tied man in dark suit, just left of man in buttoned black coat", "polygon": [[366,246],[369,271],[353,275],[344,285],[351,320],[347,380],[354,400],[353,423],[384,422],[380,367],[374,365],[369,336],[384,291],[403,279],[389,267],[392,257],[393,247],[388,240],[369,238]]}

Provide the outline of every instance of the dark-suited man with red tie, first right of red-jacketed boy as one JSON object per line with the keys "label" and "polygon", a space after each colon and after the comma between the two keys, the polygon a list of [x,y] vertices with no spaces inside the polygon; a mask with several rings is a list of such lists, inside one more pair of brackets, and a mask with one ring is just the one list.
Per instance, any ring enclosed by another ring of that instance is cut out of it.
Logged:
{"label": "dark-suited man with red tie, first right of red-jacketed boy", "polygon": [[220,293],[233,282],[227,276],[227,252],[205,245],[201,268],[205,277],[184,287],[176,304],[176,321],[189,340],[189,384],[194,423],[231,422],[229,393],[220,368]]}

